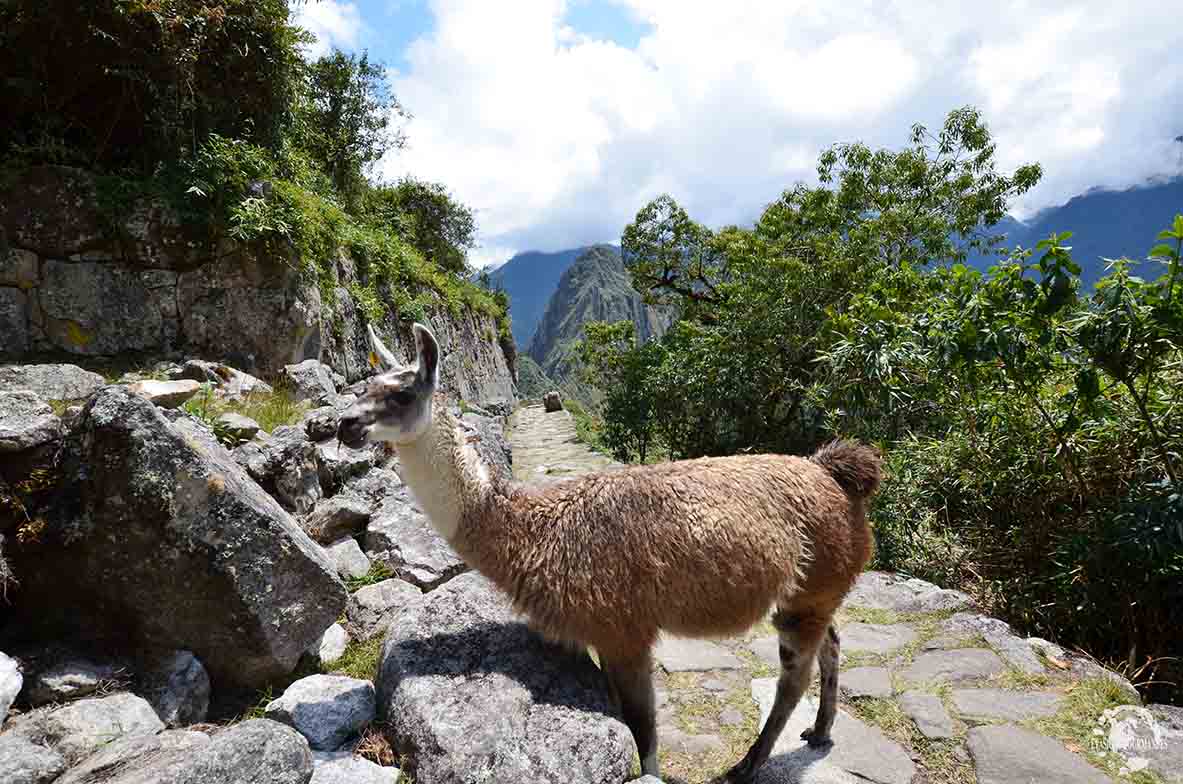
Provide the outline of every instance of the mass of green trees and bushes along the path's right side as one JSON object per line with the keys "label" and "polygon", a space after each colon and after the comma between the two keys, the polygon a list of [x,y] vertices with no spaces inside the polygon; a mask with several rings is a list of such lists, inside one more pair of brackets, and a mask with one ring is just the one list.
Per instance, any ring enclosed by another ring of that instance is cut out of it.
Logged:
{"label": "mass of green trees and bushes along the path's right side", "polygon": [[587,328],[600,438],[631,460],[878,443],[879,566],[1177,699],[1183,216],[1145,238],[1151,276],[1117,261],[1091,291],[1065,231],[1084,226],[988,274],[965,264],[1001,247],[1040,177],[997,169],[972,109],[899,150],[836,145],[817,170],[751,229],[712,232],[668,196],[638,213],[633,281],[681,317],[659,342]]}

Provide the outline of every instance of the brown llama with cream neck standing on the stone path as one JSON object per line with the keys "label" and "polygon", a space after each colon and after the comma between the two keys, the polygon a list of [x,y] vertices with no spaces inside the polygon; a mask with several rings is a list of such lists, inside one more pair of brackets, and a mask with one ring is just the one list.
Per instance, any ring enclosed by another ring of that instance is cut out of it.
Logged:
{"label": "brown llama with cream neck standing on the stone path", "polygon": [[833,615],[871,556],[866,501],[878,454],[834,442],[813,456],[742,455],[632,466],[547,486],[493,475],[439,385],[439,345],[414,325],[418,361],[388,369],[341,417],[347,445],[392,442],[435,530],[543,636],[590,646],[620,701],[644,773],[659,776],[652,647],[660,630],[738,634],[765,617],[780,641],[771,714],[731,782],[768,759],[816,659],[810,746],[830,743],[838,704]]}

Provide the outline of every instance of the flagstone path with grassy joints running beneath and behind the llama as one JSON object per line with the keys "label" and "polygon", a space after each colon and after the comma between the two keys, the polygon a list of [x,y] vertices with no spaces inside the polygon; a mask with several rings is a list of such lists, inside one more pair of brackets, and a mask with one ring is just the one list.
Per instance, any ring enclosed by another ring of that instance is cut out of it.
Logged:
{"label": "flagstone path with grassy joints running beneath and behind the llama", "polygon": [[[614,465],[577,441],[567,412],[521,409],[510,441],[515,475],[526,481]],[[1172,762],[1183,732],[1155,718],[1168,715],[1162,708],[1118,708],[1139,705],[1120,676],[1019,636],[961,591],[866,572],[838,623],[834,745],[810,750],[800,739],[816,712],[815,679],[758,784],[1183,784]],[[717,780],[744,754],[771,710],[776,652],[768,622],[731,640],[661,640],[654,679],[667,783]]]}

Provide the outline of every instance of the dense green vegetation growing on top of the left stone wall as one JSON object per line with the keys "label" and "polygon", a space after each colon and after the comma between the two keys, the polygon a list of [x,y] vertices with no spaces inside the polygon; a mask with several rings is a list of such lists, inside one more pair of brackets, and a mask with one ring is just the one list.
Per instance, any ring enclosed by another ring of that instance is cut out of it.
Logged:
{"label": "dense green vegetation growing on top of the left stone wall", "polygon": [[467,280],[472,212],[438,183],[370,179],[403,143],[384,69],[341,52],[308,63],[308,40],[286,0],[4,4],[0,175],[95,171],[109,215],[164,201],[194,245],[233,239],[325,284],[348,252],[370,318],[442,300],[508,338],[505,297]]}

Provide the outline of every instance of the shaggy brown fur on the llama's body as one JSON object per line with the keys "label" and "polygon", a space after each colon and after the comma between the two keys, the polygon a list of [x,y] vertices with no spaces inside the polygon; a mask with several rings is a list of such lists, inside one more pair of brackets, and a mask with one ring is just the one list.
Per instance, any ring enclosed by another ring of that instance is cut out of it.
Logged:
{"label": "shaggy brown fur on the llama's body", "polygon": [[828,465],[703,458],[505,487],[466,511],[453,544],[543,634],[634,659],[662,629],[725,636],[774,603],[836,607],[871,532]]}

